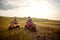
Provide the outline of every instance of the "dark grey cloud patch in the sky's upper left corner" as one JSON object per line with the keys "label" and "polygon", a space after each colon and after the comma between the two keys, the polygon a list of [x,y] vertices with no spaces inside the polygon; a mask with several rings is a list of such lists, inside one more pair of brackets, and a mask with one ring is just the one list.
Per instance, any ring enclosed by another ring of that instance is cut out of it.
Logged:
{"label": "dark grey cloud patch in the sky's upper left corner", "polygon": [[16,5],[12,5],[8,0],[0,0],[0,10],[9,10],[16,8]]}

